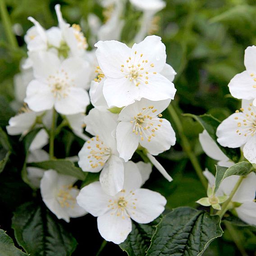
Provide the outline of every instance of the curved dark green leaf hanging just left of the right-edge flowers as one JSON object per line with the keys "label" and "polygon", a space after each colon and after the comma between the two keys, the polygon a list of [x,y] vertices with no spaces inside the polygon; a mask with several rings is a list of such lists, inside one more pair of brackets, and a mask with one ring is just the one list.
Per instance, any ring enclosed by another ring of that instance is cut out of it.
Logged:
{"label": "curved dark green leaf hanging just left of the right-edge flowers", "polygon": [[229,148],[220,146],[217,142],[216,130],[220,124],[220,121],[210,114],[203,115],[194,115],[194,114],[184,114],[185,116],[190,116],[197,120],[201,124],[201,126],[209,133],[210,137],[214,140],[219,149],[229,157],[234,162],[238,162],[240,159],[240,149],[239,148]]}

